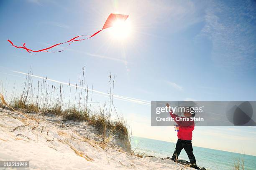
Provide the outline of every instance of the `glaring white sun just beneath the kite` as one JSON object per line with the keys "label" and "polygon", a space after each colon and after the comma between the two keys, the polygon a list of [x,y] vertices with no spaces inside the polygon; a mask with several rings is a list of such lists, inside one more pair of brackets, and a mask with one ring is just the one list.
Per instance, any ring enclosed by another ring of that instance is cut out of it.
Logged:
{"label": "glaring white sun just beneath the kite", "polygon": [[131,35],[130,20],[116,20],[110,28],[110,36],[114,39],[123,40]]}

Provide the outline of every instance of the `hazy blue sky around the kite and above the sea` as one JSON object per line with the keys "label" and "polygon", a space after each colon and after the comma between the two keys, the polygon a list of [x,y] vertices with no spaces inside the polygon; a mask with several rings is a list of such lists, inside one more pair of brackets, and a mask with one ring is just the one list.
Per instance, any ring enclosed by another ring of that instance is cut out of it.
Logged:
{"label": "hazy blue sky around the kite and above the sea", "polygon": [[[104,30],[64,52],[33,55],[7,42],[41,49],[91,35],[115,12],[129,15],[126,39]],[[140,100],[256,100],[255,14],[254,1],[2,0],[0,77],[20,87],[24,75],[11,70],[32,67],[34,75],[75,84],[85,65],[89,87],[100,92],[109,89],[111,72],[116,95]],[[150,106],[118,99],[115,106],[134,135],[176,141],[173,127],[150,127]],[[251,155],[255,141],[254,127],[198,127],[193,137],[197,146]]]}

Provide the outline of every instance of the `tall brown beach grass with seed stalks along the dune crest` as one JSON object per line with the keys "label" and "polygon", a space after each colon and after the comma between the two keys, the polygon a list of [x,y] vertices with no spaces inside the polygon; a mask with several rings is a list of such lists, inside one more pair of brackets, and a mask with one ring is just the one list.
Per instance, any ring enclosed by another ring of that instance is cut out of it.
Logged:
{"label": "tall brown beach grass with seed stalks along the dune crest", "polygon": [[[0,87],[0,93],[3,94],[3,100],[0,102],[0,107],[7,105],[15,110],[19,110],[19,112],[51,113],[63,117],[65,121],[87,121],[99,130],[100,136],[103,139],[100,144],[102,148],[106,148],[116,133],[131,139],[128,124],[124,117],[115,110],[113,103],[115,80],[111,77],[111,73],[109,75],[109,102],[98,103],[98,106],[95,108],[92,106],[92,103],[94,103],[92,102],[93,90],[89,90],[84,70],[85,68],[83,67],[82,75],[79,75],[74,93],[71,92],[72,86],[70,82],[69,93],[65,93],[63,85],[50,85],[47,77],[43,80],[38,80],[35,85],[33,83],[33,72],[30,70],[23,83],[21,94],[15,95],[12,93],[8,102],[5,102],[4,94],[6,89],[2,82],[0,84],[2,86],[2,88]],[[115,118],[113,118],[113,114]]]}

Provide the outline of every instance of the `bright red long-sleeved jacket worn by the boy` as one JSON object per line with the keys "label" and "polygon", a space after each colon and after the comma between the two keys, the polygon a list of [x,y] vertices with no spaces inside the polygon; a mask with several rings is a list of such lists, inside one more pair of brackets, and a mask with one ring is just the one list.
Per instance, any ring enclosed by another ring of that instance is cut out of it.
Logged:
{"label": "bright red long-sleeved jacket worn by the boy", "polygon": [[[179,125],[178,138],[181,140],[192,140],[192,131],[195,128],[195,122],[193,120],[189,121],[179,121],[176,120],[178,115],[175,115],[173,112],[170,112],[170,115],[174,119],[175,122]],[[180,117],[184,118],[184,117]]]}

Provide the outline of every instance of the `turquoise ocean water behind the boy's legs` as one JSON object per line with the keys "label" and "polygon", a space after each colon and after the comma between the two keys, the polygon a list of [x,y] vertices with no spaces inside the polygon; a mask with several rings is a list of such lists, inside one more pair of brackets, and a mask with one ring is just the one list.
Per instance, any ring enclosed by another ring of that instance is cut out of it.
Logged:
{"label": "turquoise ocean water behind the boy's legs", "polygon": [[[172,157],[175,145],[176,143],[136,136],[131,139],[131,147],[132,150],[136,149],[135,153],[146,153],[146,155],[160,158]],[[256,170],[256,156],[196,146],[193,146],[193,153],[197,160],[197,165],[205,167],[207,170],[233,170],[235,158],[244,158],[245,170]],[[189,161],[184,149],[178,159]]]}

